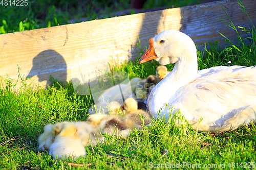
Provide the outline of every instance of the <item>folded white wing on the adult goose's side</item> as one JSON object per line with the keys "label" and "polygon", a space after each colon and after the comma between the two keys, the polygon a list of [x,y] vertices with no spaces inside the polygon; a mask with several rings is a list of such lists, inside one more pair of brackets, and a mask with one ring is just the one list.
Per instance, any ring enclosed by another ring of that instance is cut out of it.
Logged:
{"label": "folded white wing on the adult goose's side", "polygon": [[[256,67],[219,67],[180,88],[169,104],[186,118],[221,126],[241,107],[256,104]],[[255,115],[253,115],[255,118]]]}

